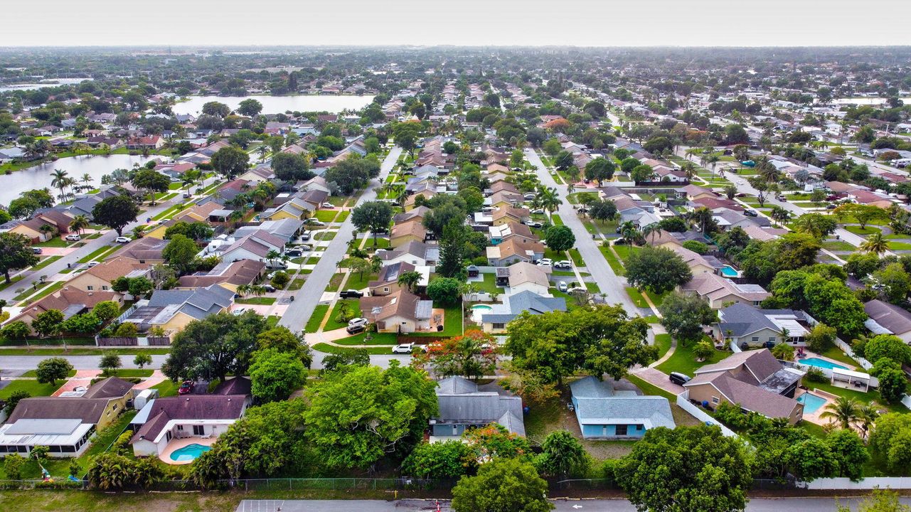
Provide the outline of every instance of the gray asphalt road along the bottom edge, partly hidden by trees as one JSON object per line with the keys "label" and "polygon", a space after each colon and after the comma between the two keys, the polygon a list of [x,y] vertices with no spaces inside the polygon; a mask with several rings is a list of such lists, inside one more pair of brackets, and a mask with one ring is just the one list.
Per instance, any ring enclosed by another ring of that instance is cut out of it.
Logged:
{"label": "gray asphalt road along the bottom edge, partly hidden by trees", "polygon": [[[857,498],[842,498],[837,502],[843,506],[856,509]],[[902,503],[911,504],[911,498],[901,498]],[[832,497],[785,497],[785,498],[755,498],[750,500],[746,509],[749,512],[834,512],[836,499]],[[636,512],[629,501],[625,499],[586,499],[586,500],[556,500],[554,502],[558,512]],[[241,501],[236,512],[432,512],[436,503],[433,500],[251,500]],[[450,512],[449,502],[440,502],[442,512]]]}

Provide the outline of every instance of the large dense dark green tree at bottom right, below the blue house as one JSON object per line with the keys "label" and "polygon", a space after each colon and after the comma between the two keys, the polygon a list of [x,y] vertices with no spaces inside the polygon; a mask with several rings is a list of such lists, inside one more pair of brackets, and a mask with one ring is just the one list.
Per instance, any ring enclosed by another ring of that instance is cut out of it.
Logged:
{"label": "large dense dark green tree at bottom right, below the blue house", "polygon": [[752,455],[717,426],[647,430],[614,475],[642,510],[741,511],[752,486]]}

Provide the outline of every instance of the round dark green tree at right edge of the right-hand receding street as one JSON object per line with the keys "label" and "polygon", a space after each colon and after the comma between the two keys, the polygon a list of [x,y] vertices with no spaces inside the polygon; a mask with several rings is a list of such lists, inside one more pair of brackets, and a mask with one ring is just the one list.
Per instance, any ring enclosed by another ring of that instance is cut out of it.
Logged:
{"label": "round dark green tree at right edge of the right-hand receding street", "polygon": [[632,286],[654,293],[670,292],[692,279],[690,267],[676,252],[650,245],[630,252],[626,273]]}

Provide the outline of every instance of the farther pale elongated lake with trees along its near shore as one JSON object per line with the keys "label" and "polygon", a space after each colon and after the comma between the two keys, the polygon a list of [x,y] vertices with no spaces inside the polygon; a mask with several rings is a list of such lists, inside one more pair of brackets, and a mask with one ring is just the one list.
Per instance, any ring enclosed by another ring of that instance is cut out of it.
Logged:
{"label": "farther pale elongated lake with trees along its near shore", "polygon": [[359,110],[374,100],[373,96],[329,96],[329,95],[295,95],[295,96],[191,96],[172,109],[175,114],[192,114],[199,116],[202,106],[210,101],[224,103],[232,110],[241,105],[244,99],[255,99],[262,104],[262,114],[282,114],[284,112],[332,112],[337,114],[344,109]]}

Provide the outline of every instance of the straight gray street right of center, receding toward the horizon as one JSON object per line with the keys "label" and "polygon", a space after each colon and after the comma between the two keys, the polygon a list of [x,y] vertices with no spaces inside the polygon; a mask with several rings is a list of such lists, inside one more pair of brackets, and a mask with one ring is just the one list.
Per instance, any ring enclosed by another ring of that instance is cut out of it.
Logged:
{"label": "straight gray street right of center, receding toward the horizon", "polygon": [[589,274],[595,278],[595,282],[598,282],[598,287],[601,292],[607,294],[606,301],[609,304],[622,304],[627,312],[638,312],[639,308],[633,304],[630,300],[630,296],[627,295],[626,290],[624,290],[626,287],[626,280],[619,277],[610,268],[608,261],[604,259],[604,254],[599,250],[598,244],[600,241],[591,239],[591,234],[585,229],[585,226],[582,225],[582,221],[578,219],[576,210],[572,209],[572,204],[566,199],[566,185],[557,183],[553,176],[548,172],[548,168],[544,165],[544,162],[541,161],[534,150],[526,149],[525,156],[528,161],[531,162],[531,165],[537,166],[537,176],[541,179],[541,183],[547,187],[557,189],[560,199],[563,200],[563,204],[560,205],[557,211],[560,219],[563,220],[563,223],[572,230],[574,235],[576,235],[576,249],[578,249],[579,254],[582,255],[582,259],[585,261]]}

